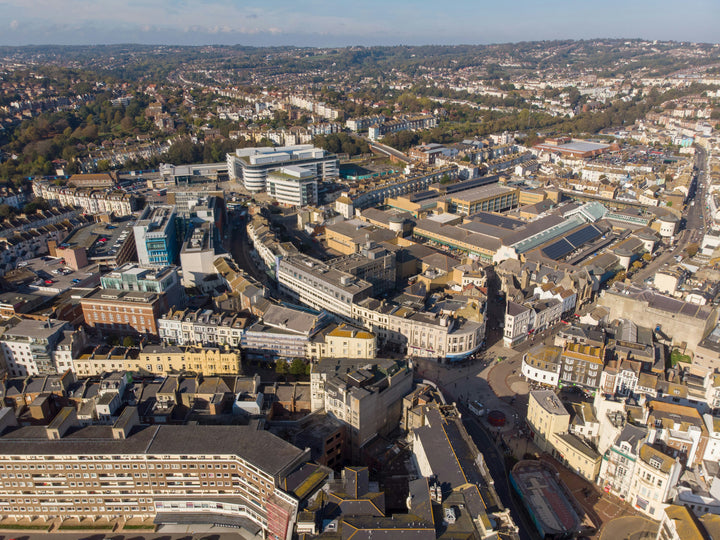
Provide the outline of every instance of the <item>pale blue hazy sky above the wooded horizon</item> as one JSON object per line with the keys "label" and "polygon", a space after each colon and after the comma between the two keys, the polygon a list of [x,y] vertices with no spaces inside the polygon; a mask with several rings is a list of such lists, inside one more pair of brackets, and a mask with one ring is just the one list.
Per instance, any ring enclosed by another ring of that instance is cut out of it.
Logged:
{"label": "pale blue hazy sky above the wooded horizon", "polygon": [[0,0],[0,45],[720,42],[720,0]]}

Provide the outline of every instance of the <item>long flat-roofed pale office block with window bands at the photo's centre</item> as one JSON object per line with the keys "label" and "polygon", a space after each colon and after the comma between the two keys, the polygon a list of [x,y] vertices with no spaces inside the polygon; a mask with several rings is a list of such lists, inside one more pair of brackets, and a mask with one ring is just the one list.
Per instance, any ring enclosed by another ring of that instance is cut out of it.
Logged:
{"label": "long flat-roofed pale office block with window bands at the photo's centre", "polygon": [[352,318],[352,305],[372,293],[372,284],[307,255],[291,255],[277,269],[280,291],[305,305]]}

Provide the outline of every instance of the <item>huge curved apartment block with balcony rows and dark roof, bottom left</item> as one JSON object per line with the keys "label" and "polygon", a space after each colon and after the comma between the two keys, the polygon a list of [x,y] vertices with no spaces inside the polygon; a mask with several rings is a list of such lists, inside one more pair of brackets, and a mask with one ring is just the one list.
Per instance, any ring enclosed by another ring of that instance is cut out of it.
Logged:
{"label": "huge curved apartment block with balcony rows and dark roof, bottom left", "polygon": [[[10,414],[12,411],[10,411]],[[7,414],[7,413],[6,413]],[[140,426],[127,407],[112,426],[77,429],[74,408],[47,427],[3,422],[3,514],[45,519],[154,518],[223,523],[289,540],[297,499],[281,489],[309,458],[248,426]]]}

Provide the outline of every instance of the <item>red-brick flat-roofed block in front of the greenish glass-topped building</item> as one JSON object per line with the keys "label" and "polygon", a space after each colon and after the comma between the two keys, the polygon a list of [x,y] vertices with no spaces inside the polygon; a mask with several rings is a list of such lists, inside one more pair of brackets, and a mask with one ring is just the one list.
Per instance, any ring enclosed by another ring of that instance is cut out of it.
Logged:
{"label": "red-brick flat-roofed block in front of the greenish glass-topped building", "polygon": [[85,323],[110,334],[158,335],[157,320],[168,309],[155,292],[98,289],[80,299]]}

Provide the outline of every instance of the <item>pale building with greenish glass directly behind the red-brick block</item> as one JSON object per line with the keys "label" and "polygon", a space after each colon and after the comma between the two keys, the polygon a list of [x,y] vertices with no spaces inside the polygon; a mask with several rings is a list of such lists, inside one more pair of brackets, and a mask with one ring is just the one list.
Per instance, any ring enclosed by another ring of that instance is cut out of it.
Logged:
{"label": "pale building with greenish glass directly behind the red-brick block", "polygon": [[103,289],[164,293],[169,306],[182,307],[185,291],[180,284],[177,266],[141,268],[128,263],[100,277]]}

